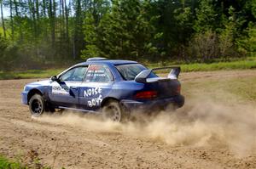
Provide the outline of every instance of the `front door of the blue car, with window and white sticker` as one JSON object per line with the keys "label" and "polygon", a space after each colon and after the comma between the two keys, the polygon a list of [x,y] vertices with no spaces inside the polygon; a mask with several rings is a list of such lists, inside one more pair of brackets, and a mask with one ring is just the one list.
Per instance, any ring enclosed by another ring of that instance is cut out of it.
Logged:
{"label": "front door of the blue car, with window and white sticker", "polygon": [[84,80],[87,66],[78,66],[64,72],[57,82],[51,82],[49,99],[61,107],[79,106],[79,87]]}

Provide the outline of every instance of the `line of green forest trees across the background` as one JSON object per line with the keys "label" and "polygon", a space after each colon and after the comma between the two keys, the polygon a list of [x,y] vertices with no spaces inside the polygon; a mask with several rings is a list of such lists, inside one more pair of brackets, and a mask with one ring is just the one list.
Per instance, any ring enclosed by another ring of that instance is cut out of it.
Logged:
{"label": "line of green forest trees across the background", "polygon": [[99,56],[212,62],[256,50],[256,0],[0,0],[0,10],[1,70]]}

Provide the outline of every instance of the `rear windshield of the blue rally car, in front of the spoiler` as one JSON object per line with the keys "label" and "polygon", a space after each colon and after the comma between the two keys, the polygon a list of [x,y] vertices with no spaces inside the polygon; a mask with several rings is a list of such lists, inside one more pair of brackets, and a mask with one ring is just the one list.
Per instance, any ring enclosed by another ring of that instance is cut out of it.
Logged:
{"label": "rear windshield of the blue rally car, in front of the spoiler", "polygon": [[[126,64],[126,65],[116,65],[116,68],[119,70],[119,73],[126,81],[133,81],[137,74],[147,68],[140,64]],[[153,72],[148,77],[157,77]]]}

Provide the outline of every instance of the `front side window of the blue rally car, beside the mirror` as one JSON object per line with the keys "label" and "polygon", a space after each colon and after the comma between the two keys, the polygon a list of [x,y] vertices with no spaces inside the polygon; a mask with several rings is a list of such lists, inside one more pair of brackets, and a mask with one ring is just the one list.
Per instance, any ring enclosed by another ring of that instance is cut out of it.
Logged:
{"label": "front side window of the blue rally car, beside the mirror", "polygon": [[79,81],[82,82],[86,73],[87,67],[75,67],[72,70],[68,70],[60,77],[61,81]]}

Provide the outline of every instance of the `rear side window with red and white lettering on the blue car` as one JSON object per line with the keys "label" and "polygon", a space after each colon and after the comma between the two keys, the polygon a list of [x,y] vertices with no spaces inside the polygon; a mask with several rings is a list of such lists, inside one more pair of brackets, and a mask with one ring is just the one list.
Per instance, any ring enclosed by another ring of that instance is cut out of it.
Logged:
{"label": "rear side window with red and white lettering on the blue car", "polygon": [[85,82],[111,82],[113,76],[105,65],[90,65],[86,73]]}

